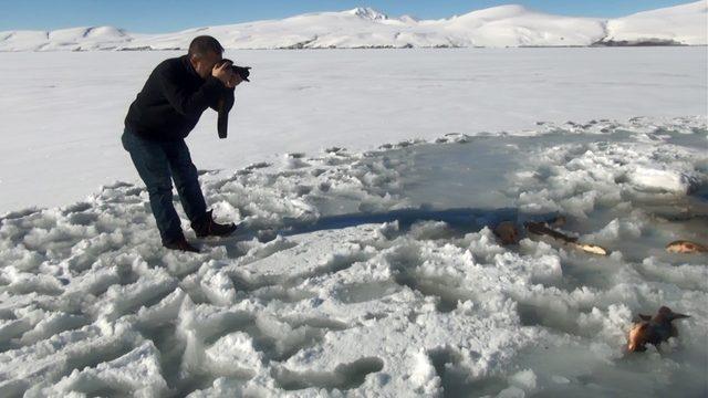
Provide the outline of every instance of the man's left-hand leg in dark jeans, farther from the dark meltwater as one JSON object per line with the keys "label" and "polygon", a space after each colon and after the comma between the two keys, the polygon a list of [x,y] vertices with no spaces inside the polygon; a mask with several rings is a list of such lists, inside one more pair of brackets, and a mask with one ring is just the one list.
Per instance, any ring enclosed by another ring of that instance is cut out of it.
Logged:
{"label": "man's left-hand leg in dark jeans, farther from the dark meltwater", "polygon": [[179,216],[173,205],[169,161],[162,143],[143,139],[129,132],[123,133],[122,140],[123,147],[131,154],[133,164],[147,187],[150,208],[163,244],[184,238]]}

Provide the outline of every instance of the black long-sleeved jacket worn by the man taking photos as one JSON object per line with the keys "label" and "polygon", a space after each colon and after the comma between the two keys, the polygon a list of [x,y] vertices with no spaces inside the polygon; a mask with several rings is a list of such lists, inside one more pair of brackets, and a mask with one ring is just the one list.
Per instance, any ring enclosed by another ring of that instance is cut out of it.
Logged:
{"label": "black long-sleeved jacket worn by the man taking photos", "polygon": [[207,107],[217,109],[220,98],[233,106],[233,88],[218,78],[201,78],[188,55],[163,61],[145,82],[125,116],[125,128],[153,140],[185,138]]}

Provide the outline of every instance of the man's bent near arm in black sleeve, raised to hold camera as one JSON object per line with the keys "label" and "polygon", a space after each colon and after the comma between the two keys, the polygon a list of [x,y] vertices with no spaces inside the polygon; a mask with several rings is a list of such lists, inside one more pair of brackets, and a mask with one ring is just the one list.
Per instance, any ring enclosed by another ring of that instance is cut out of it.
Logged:
{"label": "man's bent near arm in black sleeve, raised to hold camera", "polygon": [[191,93],[185,90],[179,80],[170,71],[162,71],[159,81],[163,94],[171,106],[185,116],[199,116],[211,104],[216,103],[226,86],[217,77],[209,76],[207,81]]}

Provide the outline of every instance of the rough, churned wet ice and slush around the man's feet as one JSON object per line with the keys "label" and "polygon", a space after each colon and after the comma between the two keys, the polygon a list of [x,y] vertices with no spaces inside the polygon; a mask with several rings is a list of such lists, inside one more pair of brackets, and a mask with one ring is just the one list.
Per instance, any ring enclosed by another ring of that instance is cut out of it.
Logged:
{"label": "rough, churned wet ice and slush around the man's feet", "polygon": [[[243,229],[201,254],[160,248],[132,184],[6,214],[0,395],[705,396],[708,256],[664,245],[708,241],[707,135],[593,121],[205,172]],[[485,227],[558,213],[611,254]],[[625,354],[660,305],[678,338]]]}

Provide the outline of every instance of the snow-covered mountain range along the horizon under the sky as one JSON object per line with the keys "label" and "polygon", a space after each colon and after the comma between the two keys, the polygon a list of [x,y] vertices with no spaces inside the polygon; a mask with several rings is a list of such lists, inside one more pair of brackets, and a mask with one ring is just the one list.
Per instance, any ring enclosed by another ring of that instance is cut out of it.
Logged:
{"label": "snow-covered mountain range along the horizon under the sky", "polygon": [[708,3],[694,3],[603,20],[552,15],[500,6],[440,20],[391,18],[371,8],[316,12],[164,34],[112,27],[0,32],[0,51],[185,49],[196,34],[228,49],[466,48],[633,44],[707,44]]}

